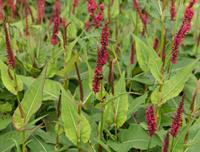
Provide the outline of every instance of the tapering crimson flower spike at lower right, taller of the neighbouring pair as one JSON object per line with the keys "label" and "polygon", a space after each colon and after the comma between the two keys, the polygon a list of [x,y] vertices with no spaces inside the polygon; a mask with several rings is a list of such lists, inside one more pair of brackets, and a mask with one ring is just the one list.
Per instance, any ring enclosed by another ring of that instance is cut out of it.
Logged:
{"label": "tapering crimson flower spike at lower right, taller of the neighbouring pair", "polygon": [[172,125],[170,128],[170,134],[172,135],[172,137],[176,137],[179,129],[181,128],[183,111],[184,111],[184,94],[182,95],[182,100],[178,106],[178,109],[173,118]]}

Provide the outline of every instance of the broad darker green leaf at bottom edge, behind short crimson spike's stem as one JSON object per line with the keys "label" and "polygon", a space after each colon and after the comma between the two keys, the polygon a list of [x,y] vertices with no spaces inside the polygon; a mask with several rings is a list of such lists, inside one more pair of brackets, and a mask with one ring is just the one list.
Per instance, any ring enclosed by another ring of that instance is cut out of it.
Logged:
{"label": "broad darker green leaf at bottom edge, behind short crimson spike's stem", "polygon": [[[108,141],[108,145],[116,152],[129,151],[131,148],[146,150],[149,144],[149,135],[147,131],[139,124],[132,124],[128,129],[120,131],[120,142]],[[150,148],[161,146],[162,141],[154,135],[151,139]]]}

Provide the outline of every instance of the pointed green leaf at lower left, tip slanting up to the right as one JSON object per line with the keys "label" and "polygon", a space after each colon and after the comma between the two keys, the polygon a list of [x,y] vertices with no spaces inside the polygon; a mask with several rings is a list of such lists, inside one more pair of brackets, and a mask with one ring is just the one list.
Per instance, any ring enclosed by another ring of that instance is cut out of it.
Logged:
{"label": "pointed green leaf at lower left, tip slanting up to the right", "polygon": [[35,114],[42,104],[43,88],[46,75],[46,67],[27,90],[21,104],[18,105],[13,115],[13,125],[21,130],[26,127],[30,118]]}

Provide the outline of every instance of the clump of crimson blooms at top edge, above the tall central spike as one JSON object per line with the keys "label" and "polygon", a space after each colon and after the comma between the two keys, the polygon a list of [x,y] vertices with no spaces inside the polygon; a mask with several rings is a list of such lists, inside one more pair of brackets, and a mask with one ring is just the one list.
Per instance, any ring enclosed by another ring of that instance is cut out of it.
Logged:
{"label": "clump of crimson blooms at top edge, above the tall central spike", "polygon": [[[104,4],[101,3],[98,6],[95,0],[88,0],[88,13],[95,28],[98,28],[104,19]],[[90,20],[86,22],[86,25],[90,25]],[[85,29],[89,29],[88,27],[90,26],[85,27]]]}

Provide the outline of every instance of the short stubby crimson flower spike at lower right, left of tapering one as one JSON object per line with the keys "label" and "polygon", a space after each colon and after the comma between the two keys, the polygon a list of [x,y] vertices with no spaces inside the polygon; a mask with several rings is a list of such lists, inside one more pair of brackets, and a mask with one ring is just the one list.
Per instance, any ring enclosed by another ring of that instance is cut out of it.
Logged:
{"label": "short stubby crimson flower spike at lower right, left of tapering one", "polygon": [[146,121],[148,125],[149,136],[152,137],[155,134],[157,128],[153,105],[146,109]]}

